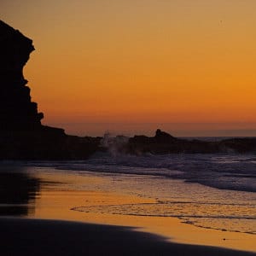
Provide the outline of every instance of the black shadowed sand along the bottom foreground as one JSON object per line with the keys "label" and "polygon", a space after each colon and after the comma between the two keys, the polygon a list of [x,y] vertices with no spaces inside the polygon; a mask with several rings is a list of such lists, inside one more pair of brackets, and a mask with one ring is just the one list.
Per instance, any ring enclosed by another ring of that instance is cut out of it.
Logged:
{"label": "black shadowed sand along the bottom foreground", "polygon": [[119,226],[0,218],[0,255],[256,255],[170,243]]}

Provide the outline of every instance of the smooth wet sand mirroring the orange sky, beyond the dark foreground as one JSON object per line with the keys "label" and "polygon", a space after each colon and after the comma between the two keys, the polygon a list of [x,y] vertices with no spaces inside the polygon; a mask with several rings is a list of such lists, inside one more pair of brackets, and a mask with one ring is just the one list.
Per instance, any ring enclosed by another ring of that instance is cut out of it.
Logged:
{"label": "smooth wet sand mirroring the orange sky, beyond the dark foreground", "polygon": [[41,193],[36,200],[35,212],[29,218],[63,219],[94,224],[130,226],[138,230],[165,236],[170,241],[256,252],[255,236],[250,234],[201,229],[190,224],[183,224],[178,218],[73,211],[73,207],[154,203],[154,200],[114,193],[113,191],[102,191],[101,189],[67,189],[67,182],[76,183],[76,185],[82,183],[100,184],[108,182],[107,177],[98,177],[91,174],[90,176],[79,177],[74,177],[72,174],[66,176],[55,174],[50,175],[50,178],[45,174],[40,176],[41,179],[44,178],[44,181],[51,180],[59,183],[50,183],[49,185],[45,183],[42,186]]}

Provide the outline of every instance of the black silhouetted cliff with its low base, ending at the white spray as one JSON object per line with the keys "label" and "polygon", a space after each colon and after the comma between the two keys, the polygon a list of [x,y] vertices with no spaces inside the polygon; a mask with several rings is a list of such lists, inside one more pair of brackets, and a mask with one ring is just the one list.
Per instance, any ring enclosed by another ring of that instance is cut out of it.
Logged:
{"label": "black silhouetted cliff with its low base, ending at the white spray", "polygon": [[32,40],[0,20],[0,159],[84,159],[100,138],[67,136],[41,125],[44,114],[31,101],[23,67],[34,50]]}

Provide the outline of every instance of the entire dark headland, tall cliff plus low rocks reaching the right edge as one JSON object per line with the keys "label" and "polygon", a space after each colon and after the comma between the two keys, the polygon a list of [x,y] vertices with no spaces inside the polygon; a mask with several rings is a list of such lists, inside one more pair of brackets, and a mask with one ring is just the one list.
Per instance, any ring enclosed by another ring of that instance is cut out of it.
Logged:
{"label": "entire dark headland, tall cliff plus low rocks reaching the right edge", "polygon": [[23,67],[34,50],[32,40],[0,20],[0,159],[82,160],[96,151],[121,154],[256,152],[256,138],[204,142],[172,137],[157,130],[154,137],[76,137],[41,124],[43,113],[32,102]]}

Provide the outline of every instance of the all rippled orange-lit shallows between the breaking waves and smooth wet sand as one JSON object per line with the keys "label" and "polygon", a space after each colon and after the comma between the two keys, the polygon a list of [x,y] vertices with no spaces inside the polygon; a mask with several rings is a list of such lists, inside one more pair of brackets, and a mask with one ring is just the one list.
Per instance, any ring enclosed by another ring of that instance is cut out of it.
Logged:
{"label": "all rippled orange-lit shallows between the breaking waves and smooth wet sand", "polygon": [[[117,177],[118,176],[118,177]],[[75,207],[81,212],[177,217],[207,229],[256,234],[255,194],[146,175],[108,174],[108,191],[154,199],[154,203]]]}

